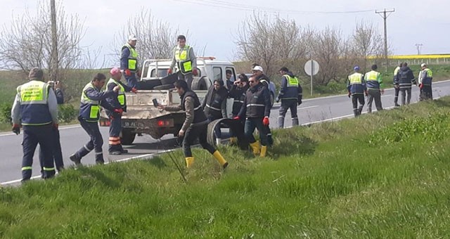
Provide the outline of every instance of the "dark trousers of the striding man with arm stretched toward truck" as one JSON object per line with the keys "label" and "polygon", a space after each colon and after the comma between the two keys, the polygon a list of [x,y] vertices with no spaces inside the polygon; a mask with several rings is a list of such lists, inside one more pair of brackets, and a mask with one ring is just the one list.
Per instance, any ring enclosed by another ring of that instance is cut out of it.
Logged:
{"label": "dark trousers of the striding man with arm stretched toward truck", "polygon": [[198,138],[200,142],[200,146],[202,146],[205,150],[208,150],[211,154],[213,154],[216,149],[212,147],[206,140],[208,131],[208,124],[200,124],[197,126],[189,127],[186,132],[184,132],[183,138],[183,151],[184,157],[192,157],[191,146],[195,142],[195,139]]}

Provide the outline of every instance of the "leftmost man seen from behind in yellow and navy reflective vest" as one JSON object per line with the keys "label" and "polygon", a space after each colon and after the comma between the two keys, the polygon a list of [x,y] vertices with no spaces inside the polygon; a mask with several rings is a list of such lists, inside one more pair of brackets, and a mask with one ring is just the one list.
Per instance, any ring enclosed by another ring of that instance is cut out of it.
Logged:
{"label": "leftmost man seen from behind in yellow and navy reflective vest", "polygon": [[42,150],[42,178],[55,176],[52,149],[58,129],[58,105],[55,92],[44,81],[44,72],[34,67],[28,75],[30,82],[17,87],[11,109],[13,132],[20,134],[23,126],[22,181],[30,180],[34,151],[37,144]]}

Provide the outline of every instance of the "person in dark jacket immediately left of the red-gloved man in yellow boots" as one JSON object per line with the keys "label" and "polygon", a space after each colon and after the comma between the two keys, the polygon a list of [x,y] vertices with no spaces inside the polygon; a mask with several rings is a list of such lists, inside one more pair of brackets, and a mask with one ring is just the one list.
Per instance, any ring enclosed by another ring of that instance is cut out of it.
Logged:
{"label": "person in dark jacket immediately left of the red-gloved man in yellow boots", "polygon": [[[233,110],[231,111],[233,118],[238,116],[240,108],[242,108],[245,92],[248,90],[248,87],[248,78],[245,74],[240,74],[238,79],[233,82],[233,86],[231,86],[229,96],[233,98]],[[240,122],[242,123],[241,129],[243,131],[245,118],[240,119]],[[237,142],[238,138],[233,134],[233,131],[230,131],[230,143],[233,144]]]}

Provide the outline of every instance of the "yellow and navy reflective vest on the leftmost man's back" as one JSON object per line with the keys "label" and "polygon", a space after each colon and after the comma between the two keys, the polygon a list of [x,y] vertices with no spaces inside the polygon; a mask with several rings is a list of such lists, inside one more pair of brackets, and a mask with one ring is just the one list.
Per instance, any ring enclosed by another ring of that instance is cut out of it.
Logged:
{"label": "yellow and navy reflective vest on the leftmost man's back", "polygon": [[32,80],[17,87],[23,125],[45,125],[52,122],[48,105],[49,84]]}

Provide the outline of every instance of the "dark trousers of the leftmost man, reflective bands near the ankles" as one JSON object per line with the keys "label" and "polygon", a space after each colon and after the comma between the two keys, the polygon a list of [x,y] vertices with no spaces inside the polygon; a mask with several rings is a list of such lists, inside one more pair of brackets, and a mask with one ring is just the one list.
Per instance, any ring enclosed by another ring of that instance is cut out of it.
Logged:
{"label": "dark trousers of the leftmost man, reflective bands near the ankles", "polygon": [[55,176],[55,167],[51,147],[53,134],[56,129],[51,124],[41,126],[23,126],[23,158],[22,158],[22,180],[29,180],[32,176],[32,164],[34,151],[37,144],[42,150],[42,178],[49,179]]}

